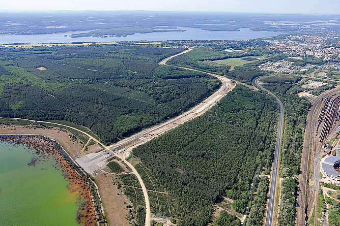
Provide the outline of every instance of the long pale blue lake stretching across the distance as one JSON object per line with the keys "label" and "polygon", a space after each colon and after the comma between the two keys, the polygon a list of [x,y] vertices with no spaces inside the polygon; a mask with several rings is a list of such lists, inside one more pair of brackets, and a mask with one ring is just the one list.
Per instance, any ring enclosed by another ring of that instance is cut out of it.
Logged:
{"label": "long pale blue lake stretching across the distance", "polygon": [[[0,44],[13,43],[71,43],[71,42],[119,42],[119,41],[166,41],[166,40],[249,40],[262,37],[277,36],[284,33],[273,31],[253,31],[249,28],[240,28],[239,31],[209,31],[200,28],[178,27],[186,31],[154,32],[130,35],[127,37],[69,37],[73,33],[86,33],[88,31],[46,34],[46,35],[0,35]],[[66,35],[66,37],[64,37]]]}

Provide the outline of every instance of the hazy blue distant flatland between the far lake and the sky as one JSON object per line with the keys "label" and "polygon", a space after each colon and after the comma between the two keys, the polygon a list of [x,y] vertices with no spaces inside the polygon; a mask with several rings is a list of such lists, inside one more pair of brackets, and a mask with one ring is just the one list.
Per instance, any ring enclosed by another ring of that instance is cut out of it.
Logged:
{"label": "hazy blue distant flatland between the far lake and the sky", "polygon": [[[156,11],[3,11],[0,34],[51,34],[96,29],[158,29],[195,27],[205,30],[252,30],[299,33],[338,29],[338,15],[274,15]],[[137,30],[138,30],[137,29]],[[105,35],[105,34],[104,34]],[[108,34],[109,35],[109,34]]]}

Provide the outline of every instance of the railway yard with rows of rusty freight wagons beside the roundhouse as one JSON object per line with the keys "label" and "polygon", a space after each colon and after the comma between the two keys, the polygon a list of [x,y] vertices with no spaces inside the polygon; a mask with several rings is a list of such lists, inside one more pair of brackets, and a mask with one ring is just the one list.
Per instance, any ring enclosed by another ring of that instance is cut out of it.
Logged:
{"label": "railway yard with rows of rusty freight wagons beside the roundhouse", "polygon": [[[318,208],[316,208],[318,207],[318,194],[321,187],[319,166],[330,138],[338,132],[340,119],[339,90],[340,88],[335,88],[320,95],[313,103],[307,117],[301,174],[299,176],[296,225],[306,225],[313,212],[315,213],[314,222],[320,221],[318,219]],[[329,180],[329,182],[334,183],[335,181]],[[328,225],[327,222],[324,222],[324,225]]]}

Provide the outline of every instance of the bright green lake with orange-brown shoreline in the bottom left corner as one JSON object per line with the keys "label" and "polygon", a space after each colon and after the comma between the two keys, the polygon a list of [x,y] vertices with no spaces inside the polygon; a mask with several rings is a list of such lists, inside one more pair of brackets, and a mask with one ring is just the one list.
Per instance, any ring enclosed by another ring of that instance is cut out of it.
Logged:
{"label": "bright green lake with orange-brown shoreline in the bottom left corner", "polygon": [[22,144],[0,142],[0,225],[79,225],[79,193],[53,156],[38,155]]}

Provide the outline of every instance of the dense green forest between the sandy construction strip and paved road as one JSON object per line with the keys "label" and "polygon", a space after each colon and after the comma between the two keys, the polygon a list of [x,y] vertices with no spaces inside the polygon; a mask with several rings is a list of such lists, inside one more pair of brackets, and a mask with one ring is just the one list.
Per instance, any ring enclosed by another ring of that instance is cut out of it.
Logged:
{"label": "dense green forest between the sandy construction strip and paved road", "polygon": [[174,198],[178,225],[207,225],[221,196],[245,211],[254,173],[272,163],[276,119],[273,98],[238,85],[204,115],[133,154]]}

